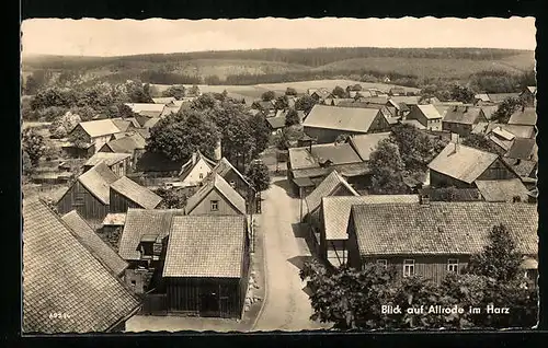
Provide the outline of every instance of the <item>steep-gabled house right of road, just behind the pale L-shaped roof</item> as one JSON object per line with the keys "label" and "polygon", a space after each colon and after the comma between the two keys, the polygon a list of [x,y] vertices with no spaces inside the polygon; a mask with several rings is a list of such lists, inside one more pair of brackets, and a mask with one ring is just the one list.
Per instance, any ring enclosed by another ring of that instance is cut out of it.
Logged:
{"label": "steep-gabled house right of road, just behind the pale L-shaped roof", "polygon": [[323,197],[331,196],[359,196],[359,194],[342,177],[336,170],[331,172],[308,196],[305,198],[306,216],[304,222],[317,220]]}

